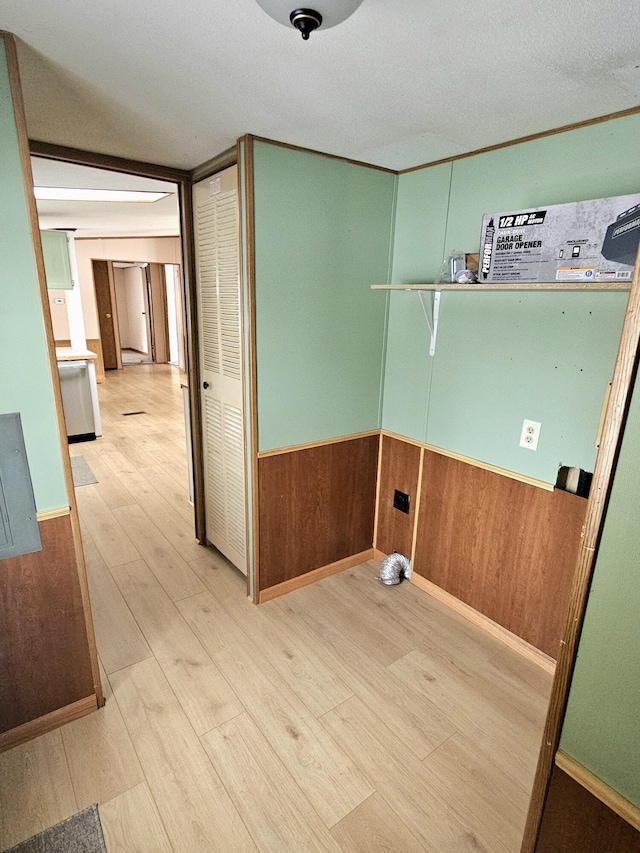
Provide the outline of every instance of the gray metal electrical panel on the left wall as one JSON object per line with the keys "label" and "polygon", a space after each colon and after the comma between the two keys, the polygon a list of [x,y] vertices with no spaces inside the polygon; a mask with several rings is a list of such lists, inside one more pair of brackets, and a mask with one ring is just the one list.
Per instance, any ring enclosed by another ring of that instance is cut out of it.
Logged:
{"label": "gray metal electrical panel on the left wall", "polygon": [[0,560],[41,550],[20,415],[0,415]]}

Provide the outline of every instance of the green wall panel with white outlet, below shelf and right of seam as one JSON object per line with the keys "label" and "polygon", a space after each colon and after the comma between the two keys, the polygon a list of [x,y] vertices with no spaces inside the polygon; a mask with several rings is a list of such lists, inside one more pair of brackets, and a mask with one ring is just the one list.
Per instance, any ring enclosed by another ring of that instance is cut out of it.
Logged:
{"label": "green wall panel with white outlet, below shelf and right of seam", "polygon": [[[593,471],[626,293],[445,293],[425,441],[555,483]],[[524,419],[542,423],[536,451]]]}

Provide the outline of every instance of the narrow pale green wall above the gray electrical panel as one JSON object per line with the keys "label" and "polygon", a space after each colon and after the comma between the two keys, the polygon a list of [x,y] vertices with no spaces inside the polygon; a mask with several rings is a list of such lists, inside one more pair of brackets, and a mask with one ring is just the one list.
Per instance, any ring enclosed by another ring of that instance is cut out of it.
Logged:
{"label": "narrow pale green wall above the gray electrical panel", "polygon": [[4,41],[0,39],[0,411],[20,412],[38,511],[68,505]]}

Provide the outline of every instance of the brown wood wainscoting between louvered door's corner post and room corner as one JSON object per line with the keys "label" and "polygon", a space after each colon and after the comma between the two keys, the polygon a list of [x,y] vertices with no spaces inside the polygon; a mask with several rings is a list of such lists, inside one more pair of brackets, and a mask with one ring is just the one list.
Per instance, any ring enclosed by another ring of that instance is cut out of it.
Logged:
{"label": "brown wood wainscoting between louvered door's corner post and room corner", "polygon": [[379,434],[260,454],[260,600],[373,554]]}

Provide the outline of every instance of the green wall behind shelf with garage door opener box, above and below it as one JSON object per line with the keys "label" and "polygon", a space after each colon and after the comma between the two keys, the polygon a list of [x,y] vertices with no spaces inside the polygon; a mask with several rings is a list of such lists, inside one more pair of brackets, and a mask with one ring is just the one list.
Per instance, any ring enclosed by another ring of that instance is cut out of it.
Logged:
{"label": "green wall behind shelf with garage door opener box, above and below it", "polygon": [[[638,150],[635,115],[401,175],[393,282],[478,251],[484,213],[640,192]],[[393,293],[383,427],[547,482],[560,463],[593,470],[626,299],[446,293],[430,358],[419,296]],[[535,453],[524,418],[542,422]]]}

